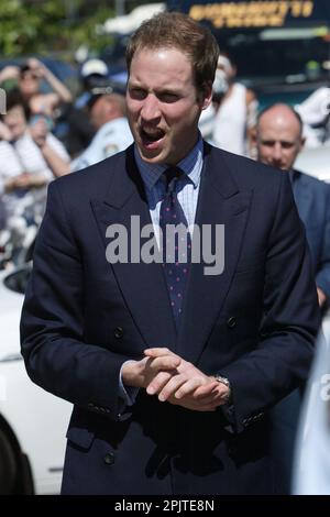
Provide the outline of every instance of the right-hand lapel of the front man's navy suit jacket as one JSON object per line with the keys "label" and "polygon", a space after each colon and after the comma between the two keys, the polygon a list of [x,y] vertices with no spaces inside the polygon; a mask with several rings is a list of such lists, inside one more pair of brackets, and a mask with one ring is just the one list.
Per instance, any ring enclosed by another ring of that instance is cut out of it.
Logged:
{"label": "right-hand lapel of the front man's navy suit jacket", "polygon": [[[205,263],[191,264],[177,352],[196,363],[226,300],[240,255],[251,191],[240,193],[223,154],[206,146],[196,223],[224,226],[224,270],[206,275]],[[195,237],[195,233],[194,233]]]}

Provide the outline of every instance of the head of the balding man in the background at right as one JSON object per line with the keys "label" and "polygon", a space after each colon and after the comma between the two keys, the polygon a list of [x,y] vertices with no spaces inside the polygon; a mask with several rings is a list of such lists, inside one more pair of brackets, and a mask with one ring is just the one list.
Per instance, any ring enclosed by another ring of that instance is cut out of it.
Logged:
{"label": "head of the balding man in the background at right", "polygon": [[258,160],[282,169],[292,169],[304,146],[299,122],[286,107],[266,111],[257,128]]}

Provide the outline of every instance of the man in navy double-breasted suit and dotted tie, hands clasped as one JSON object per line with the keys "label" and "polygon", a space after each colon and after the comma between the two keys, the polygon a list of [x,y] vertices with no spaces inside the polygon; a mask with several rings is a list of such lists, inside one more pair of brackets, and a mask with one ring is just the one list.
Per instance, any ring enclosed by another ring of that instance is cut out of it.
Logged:
{"label": "man in navy double-breasted suit and dotted tie, hands clasped", "polygon": [[288,177],[198,133],[217,59],[184,14],[143,23],[134,145],[50,187],[21,336],[74,404],[63,494],[274,492],[268,409],[307,376],[317,297]]}

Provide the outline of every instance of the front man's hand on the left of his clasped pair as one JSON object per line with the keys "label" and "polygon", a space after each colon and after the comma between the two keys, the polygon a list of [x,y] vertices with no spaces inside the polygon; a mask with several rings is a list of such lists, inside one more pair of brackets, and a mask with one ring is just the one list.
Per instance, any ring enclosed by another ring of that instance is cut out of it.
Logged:
{"label": "front man's hand on the left of his clasped pair", "polygon": [[130,361],[122,367],[122,381],[127,386],[146,388],[157,375],[166,384],[177,374],[180,359],[168,353],[158,358],[143,358],[141,361]]}

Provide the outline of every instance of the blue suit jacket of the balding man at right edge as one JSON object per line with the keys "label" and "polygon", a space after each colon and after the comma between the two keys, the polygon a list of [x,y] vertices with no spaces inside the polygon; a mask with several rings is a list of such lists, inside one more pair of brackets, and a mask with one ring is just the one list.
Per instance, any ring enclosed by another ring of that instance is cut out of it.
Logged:
{"label": "blue suit jacket of the balding man at right edge", "polygon": [[330,185],[293,172],[294,197],[306,228],[317,286],[330,300]]}

